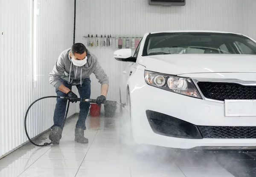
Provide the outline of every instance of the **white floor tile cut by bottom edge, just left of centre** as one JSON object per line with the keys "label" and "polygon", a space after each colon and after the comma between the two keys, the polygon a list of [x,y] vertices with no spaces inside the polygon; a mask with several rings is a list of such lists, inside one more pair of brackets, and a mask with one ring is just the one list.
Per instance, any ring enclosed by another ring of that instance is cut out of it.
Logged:
{"label": "white floor tile cut by bottom edge, just left of centre", "polygon": [[129,170],[83,170],[80,169],[76,177],[131,177]]}

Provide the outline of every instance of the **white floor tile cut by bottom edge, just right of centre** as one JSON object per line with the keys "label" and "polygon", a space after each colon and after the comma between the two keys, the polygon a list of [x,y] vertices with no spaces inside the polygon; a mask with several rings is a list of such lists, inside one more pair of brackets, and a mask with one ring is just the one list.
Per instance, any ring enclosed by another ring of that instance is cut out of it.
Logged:
{"label": "white floor tile cut by bottom edge, just right of centre", "polygon": [[131,177],[186,177],[181,171],[131,171]]}

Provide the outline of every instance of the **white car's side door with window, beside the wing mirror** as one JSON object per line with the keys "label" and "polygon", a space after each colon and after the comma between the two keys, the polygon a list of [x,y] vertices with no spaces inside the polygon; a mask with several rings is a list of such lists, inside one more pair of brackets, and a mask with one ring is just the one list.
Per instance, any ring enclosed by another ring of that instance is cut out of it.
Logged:
{"label": "white car's side door with window, beside the wing mirror", "polygon": [[[134,57],[136,57],[136,58],[137,58],[139,50],[140,50],[141,41],[142,41],[142,39],[140,40],[140,43],[134,52]],[[131,75],[134,73],[134,71],[136,70],[136,65],[137,65],[137,63],[127,62],[124,71],[122,71],[121,86],[120,86],[120,92],[121,92],[120,94],[121,94],[122,103],[126,102],[128,80],[131,77]]]}

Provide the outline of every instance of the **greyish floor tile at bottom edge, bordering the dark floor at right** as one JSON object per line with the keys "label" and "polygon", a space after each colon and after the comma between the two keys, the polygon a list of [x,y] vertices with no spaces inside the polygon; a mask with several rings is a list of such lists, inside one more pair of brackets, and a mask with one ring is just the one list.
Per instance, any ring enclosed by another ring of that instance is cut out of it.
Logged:
{"label": "greyish floor tile at bottom edge, bordering the dark floor at right", "polygon": [[234,177],[228,171],[183,171],[186,177]]}

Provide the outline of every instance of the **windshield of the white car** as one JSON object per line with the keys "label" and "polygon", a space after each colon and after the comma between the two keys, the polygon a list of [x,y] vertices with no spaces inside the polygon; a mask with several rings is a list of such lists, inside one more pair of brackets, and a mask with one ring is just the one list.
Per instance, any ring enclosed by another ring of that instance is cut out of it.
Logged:
{"label": "windshield of the white car", "polygon": [[242,35],[229,33],[149,34],[143,56],[160,54],[256,54],[256,43]]}

